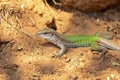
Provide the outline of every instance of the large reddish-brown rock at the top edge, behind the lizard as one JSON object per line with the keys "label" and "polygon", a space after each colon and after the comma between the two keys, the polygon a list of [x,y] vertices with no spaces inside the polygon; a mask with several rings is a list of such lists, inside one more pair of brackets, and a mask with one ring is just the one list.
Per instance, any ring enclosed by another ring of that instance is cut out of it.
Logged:
{"label": "large reddish-brown rock at the top edge, behind the lizard", "polygon": [[118,2],[119,0],[61,0],[63,7],[73,7],[86,12],[99,11]]}

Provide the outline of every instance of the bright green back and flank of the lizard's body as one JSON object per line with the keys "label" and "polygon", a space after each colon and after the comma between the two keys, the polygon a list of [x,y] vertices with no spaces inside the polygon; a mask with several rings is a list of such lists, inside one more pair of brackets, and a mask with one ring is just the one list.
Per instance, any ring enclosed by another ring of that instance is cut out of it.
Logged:
{"label": "bright green back and flank of the lizard's body", "polygon": [[88,47],[99,38],[95,35],[64,35],[64,37],[72,43],[65,43],[68,47]]}

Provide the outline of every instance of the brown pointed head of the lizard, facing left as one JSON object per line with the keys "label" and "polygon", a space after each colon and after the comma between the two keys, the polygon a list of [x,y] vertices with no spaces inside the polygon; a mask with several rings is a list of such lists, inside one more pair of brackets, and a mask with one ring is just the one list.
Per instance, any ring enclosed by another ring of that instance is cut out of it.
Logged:
{"label": "brown pointed head of the lizard, facing left", "polygon": [[56,31],[51,28],[43,28],[36,33],[37,36],[44,39],[52,38],[55,34],[57,34]]}

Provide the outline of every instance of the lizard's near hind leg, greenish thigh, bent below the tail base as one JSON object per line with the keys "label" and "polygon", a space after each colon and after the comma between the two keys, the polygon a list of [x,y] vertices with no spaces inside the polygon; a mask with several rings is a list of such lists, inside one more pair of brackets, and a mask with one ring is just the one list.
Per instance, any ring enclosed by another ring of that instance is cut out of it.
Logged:
{"label": "lizard's near hind leg, greenish thigh, bent below the tail base", "polygon": [[91,45],[91,50],[92,51],[98,51],[99,54],[100,54],[100,58],[103,57],[108,52],[107,48],[105,48],[103,46],[100,46],[97,43],[93,43]]}

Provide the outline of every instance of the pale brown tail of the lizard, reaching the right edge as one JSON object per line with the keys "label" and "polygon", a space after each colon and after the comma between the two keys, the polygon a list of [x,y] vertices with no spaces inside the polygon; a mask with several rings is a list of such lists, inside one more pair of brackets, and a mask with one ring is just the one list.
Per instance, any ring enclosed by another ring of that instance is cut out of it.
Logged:
{"label": "pale brown tail of the lizard, reaching the right edge", "polygon": [[112,41],[109,41],[104,38],[100,38],[99,40],[100,40],[99,45],[104,46],[108,49],[120,51],[120,45],[117,45],[117,44],[113,43]]}

